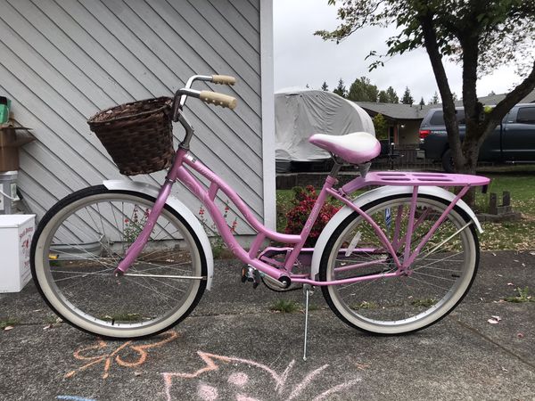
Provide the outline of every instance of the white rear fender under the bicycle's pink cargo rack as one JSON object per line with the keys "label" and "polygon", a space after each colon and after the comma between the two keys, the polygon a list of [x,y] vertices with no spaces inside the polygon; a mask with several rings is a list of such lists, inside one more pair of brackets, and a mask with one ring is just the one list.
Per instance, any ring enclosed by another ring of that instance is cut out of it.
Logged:
{"label": "white rear fender under the bicycle's pink cargo rack", "polygon": [[[353,201],[353,204],[356,205],[358,208],[362,208],[369,202],[376,201],[378,199],[385,198],[388,196],[398,194],[412,194],[413,188],[414,187],[412,186],[382,186],[358,196],[358,198]],[[453,201],[456,197],[454,193],[446,191],[445,189],[440,188],[438,186],[420,186],[418,188],[418,194],[434,196],[436,198],[441,198],[445,201]],[[465,213],[472,219],[473,224],[475,224],[479,232],[482,233],[483,230],[481,228],[479,220],[475,216],[475,213],[473,213],[473,210],[470,209],[470,207],[465,203],[465,201],[457,201],[457,206],[463,209],[463,211],[465,211]],[[334,230],[336,230],[338,225],[341,225],[342,221],[345,220],[346,217],[350,216],[353,211],[353,209],[346,205],[342,209],[340,209],[338,213],[336,213],[333,218],[331,218],[331,220],[329,220],[329,223],[327,223],[327,225],[325,225],[325,228],[317,239],[316,246],[314,247],[314,253],[312,254],[310,278],[314,279],[314,277],[316,277],[316,274],[319,273],[319,263],[323,256],[327,241],[329,241],[329,239],[333,235]]]}

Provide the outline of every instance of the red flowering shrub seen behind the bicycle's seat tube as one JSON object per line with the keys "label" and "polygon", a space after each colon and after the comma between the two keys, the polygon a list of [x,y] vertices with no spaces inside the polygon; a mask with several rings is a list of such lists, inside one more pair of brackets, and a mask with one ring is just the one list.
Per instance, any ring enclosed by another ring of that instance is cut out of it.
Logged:
{"label": "red flowering shrub seen behind the bicycle's seat tube", "polygon": [[[300,234],[317,201],[317,193],[312,185],[308,185],[305,189],[293,188],[293,192],[295,192],[295,199],[292,201],[293,208],[286,213],[287,222],[284,233]],[[311,248],[316,245],[317,237],[339,209],[331,203],[325,202],[319,211],[316,222],[312,225],[305,247]]]}

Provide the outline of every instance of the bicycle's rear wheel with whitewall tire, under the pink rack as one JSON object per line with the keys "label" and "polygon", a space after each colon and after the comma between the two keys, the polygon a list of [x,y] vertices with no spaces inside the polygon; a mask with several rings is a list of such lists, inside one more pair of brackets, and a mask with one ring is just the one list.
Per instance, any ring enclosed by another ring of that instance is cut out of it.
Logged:
{"label": "bicycle's rear wheel with whitewall tire, under the pink rack", "polygon": [[[386,234],[401,261],[410,205],[409,194],[383,198],[362,208]],[[411,251],[448,206],[449,201],[418,196]],[[344,322],[376,334],[402,334],[421,330],[448,315],[470,289],[478,262],[475,228],[470,217],[456,206],[406,274],[383,277],[397,272],[392,255],[372,226],[354,212],[327,242],[319,274],[322,281],[362,279],[322,287],[329,307]]]}

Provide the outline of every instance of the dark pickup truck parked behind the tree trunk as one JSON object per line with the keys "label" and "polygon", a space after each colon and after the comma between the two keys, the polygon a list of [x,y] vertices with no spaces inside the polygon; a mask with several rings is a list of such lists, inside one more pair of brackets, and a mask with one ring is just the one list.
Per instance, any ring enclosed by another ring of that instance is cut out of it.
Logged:
{"label": "dark pickup truck parked behind the tree trunk", "polygon": [[[465,136],[465,110],[457,108],[461,140]],[[442,109],[431,109],[420,125],[420,150],[425,158],[441,160],[453,171]],[[517,104],[481,145],[480,161],[535,163],[535,103]]]}

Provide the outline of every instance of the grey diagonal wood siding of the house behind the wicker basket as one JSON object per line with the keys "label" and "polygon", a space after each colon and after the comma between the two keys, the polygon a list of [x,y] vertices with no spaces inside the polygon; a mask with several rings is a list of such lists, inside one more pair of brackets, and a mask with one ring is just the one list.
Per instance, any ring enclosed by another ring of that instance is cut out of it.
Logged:
{"label": "grey diagonal wood siding of the house behind the wicker basket", "polygon": [[[195,73],[219,73],[234,75],[238,84],[199,88],[234,95],[238,107],[190,100],[192,151],[263,220],[269,149],[262,136],[261,94],[268,86],[261,74],[261,3],[0,0],[0,94],[12,99],[15,119],[37,137],[21,149],[19,176],[37,218],[70,192],[121,177],[87,118],[115,104],[171,95]],[[180,127],[174,134],[182,137]],[[159,184],[163,174],[134,179]],[[177,192],[199,208],[193,195]],[[251,233],[241,218],[237,232]]]}

